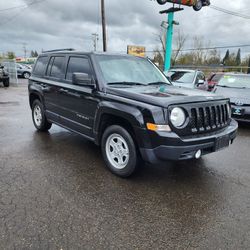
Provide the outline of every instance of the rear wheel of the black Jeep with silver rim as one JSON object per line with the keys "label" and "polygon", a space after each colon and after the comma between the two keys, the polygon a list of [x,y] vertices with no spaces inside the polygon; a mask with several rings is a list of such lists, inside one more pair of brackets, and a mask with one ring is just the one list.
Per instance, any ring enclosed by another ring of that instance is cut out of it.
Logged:
{"label": "rear wheel of the black Jeep with silver rim", "polygon": [[46,119],[44,107],[39,100],[35,100],[32,104],[32,120],[35,128],[40,132],[47,132],[52,126]]}

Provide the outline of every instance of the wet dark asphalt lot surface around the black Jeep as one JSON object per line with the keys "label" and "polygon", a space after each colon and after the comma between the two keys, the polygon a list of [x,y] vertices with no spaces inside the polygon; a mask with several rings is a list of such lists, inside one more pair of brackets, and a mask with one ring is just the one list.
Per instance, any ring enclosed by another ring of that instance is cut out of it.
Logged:
{"label": "wet dark asphalt lot surface around the black Jeep", "polygon": [[120,179],[100,149],[37,133],[27,83],[0,87],[0,249],[249,249],[250,127],[193,162]]}

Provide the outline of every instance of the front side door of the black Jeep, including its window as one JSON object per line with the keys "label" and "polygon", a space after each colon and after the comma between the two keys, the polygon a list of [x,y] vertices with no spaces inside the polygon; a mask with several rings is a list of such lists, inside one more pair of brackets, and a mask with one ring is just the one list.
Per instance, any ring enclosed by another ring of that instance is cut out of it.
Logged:
{"label": "front side door of the black Jeep, including its window", "polygon": [[73,85],[73,73],[86,73],[95,79],[91,61],[87,56],[68,56],[65,83],[58,92],[61,122],[70,129],[93,138],[98,92],[89,87]]}

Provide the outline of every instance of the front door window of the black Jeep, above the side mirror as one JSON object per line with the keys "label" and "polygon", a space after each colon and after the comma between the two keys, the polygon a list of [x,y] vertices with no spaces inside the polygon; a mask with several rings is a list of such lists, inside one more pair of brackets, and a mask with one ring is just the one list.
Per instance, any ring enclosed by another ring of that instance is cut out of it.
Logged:
{"label": "front door window of the black Jeep, above the side mirror", "polygon": [[67,80],[72,80],[73,73],[86,73],[91,75],[89,60],[83,57],[70,57],[66,74]]}

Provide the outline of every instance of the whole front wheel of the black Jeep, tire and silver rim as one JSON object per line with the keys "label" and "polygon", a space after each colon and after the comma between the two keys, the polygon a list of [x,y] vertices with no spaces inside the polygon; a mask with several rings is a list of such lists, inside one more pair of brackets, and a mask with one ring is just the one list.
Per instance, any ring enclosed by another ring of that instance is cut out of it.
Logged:
{"label": "whole front wheel of the black Jeep, tire and silver rim", "polygon": [[121,126],[108,127],[101,141],[104,161],[115,175],[126,178],[138,168],[140,156],[129,132]]}

